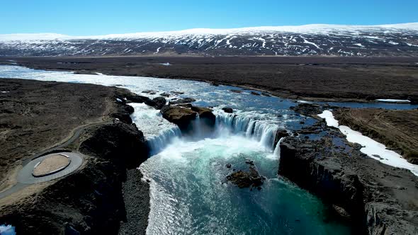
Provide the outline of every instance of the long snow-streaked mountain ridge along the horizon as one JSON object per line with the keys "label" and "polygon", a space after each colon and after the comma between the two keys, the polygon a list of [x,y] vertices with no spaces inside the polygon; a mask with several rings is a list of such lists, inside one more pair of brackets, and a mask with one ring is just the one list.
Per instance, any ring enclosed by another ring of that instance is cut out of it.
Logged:
{"label": "long snow-streaked mountain ridge along the horizon", "polygon": [[196,28],[154,33],[0,35],[0,56],[417,56],[418,23]]}

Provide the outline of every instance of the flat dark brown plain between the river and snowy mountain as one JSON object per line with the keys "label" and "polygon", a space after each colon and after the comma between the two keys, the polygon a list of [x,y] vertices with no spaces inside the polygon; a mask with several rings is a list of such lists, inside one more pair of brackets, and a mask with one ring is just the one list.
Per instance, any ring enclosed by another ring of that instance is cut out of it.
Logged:
{"label": "flat dark brown plain between the river and snowy mountain", "polygon": [[413,57],[3,57],[33,69],[208,81],[310,101],[417,102]]}

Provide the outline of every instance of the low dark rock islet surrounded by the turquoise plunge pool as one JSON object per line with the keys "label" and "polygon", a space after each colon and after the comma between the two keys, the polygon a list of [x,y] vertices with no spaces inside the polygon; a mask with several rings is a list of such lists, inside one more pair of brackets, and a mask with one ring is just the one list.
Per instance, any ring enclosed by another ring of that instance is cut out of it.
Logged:
{"label": "low dark rock islet surrounded by the turquoise plunge pool", "polygon": [[249,171],[235,171],[227,176],[227,181],[237,185],[239,188],[260,187],[265,178],[259,175],[254,166],[249,166]]}

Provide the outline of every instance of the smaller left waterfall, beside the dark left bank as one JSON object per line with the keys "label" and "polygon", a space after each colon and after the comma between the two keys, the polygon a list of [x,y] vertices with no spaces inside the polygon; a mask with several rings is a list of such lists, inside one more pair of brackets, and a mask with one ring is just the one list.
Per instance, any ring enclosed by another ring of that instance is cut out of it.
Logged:
{"label": "smaller left waterfall, beside the dark left bank", "polygon": [[159,151],[162,151],[168,144],[170,144],[174,139],[181,137],[181,130],[179,127],[171,127],[166,130],[162,130],[158,135],[149,137],[147,139],[147,144],[149,147],[149,154],[152,156],[158,154]]}

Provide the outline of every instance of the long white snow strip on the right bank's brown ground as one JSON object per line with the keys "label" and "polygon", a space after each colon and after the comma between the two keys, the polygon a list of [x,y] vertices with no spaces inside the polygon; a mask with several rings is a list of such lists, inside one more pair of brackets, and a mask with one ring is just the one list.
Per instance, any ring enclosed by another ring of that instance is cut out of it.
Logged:
{"label": "long white snow strip on the right bank's brown ground", "polygon": [[338,121],[335,120],[334,115],[329,110],[324,110],[318,116],[325,119],[328,126],[337,127],[345,136],[349,142],[361,144],[363,148],[360,151],[372,159],[378,160],[383,164],[389,166],[395,166],[398,168],[405,168],[411,171],[415,176],[418,176],[418,166],[410,164],[406,159],[403,159],[400,154],[395,151],[386,149],[384,144],[380,144],[375,140],[364,136],[360,132],[351,130],[350,127],[344,125],[338,125]]}

